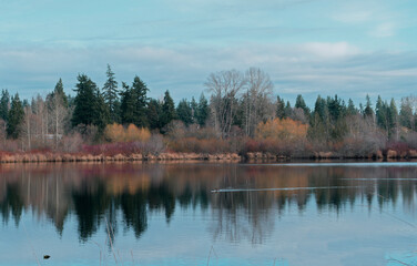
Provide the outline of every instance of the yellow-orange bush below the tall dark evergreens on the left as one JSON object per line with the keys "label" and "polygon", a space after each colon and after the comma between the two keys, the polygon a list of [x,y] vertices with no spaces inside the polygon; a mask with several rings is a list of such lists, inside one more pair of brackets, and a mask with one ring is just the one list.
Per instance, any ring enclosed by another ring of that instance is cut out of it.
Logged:
{"label": "yellow-orange bush below the tall dark evergreens on the left", "polygon": [[121,124],[109,124],[105,126],[104,136],[111,142],[145,142],[151,139],[151,132],[148,129],[138,129],[134,124],[130,124],[124,129]]}

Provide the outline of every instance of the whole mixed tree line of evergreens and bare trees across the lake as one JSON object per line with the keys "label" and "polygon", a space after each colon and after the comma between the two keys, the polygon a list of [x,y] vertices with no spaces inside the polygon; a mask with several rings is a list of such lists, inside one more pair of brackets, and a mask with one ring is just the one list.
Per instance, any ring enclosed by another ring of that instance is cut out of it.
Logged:
{"label": "whole mixed tree line of evergreens and bare trees across the lake", "polygon": [[[250,68],[245,72],[211,73],[204,82],[208,99],[202,93],[199,100],[182,99],[175,105],[170,91],[162,99],[149,98],[148,84],[138,75],[131,84],[122,82],[120,86],[110,65],[105,74],[102,88],[79,74],[74,96],[64,93],[61,79],[44,99],[38,95],[30,102],[2,90],[1,150],[62,150],[74,142],[121,140],[106,135],[109,129],[119,129],[116,125],[162,134],[171,150],[199,150],[190,147],[190,143],[204,140],[216,140],[217,145],[232,152],[267,151],[265,146],[274,146],[274,153],[342,151],[357,155],[389,145],[417,147],[415,96],[403,98],[397,108],[394,99],[386,101],[380,96],[375,106],[368,95],[365,104],[356,106],[352,99],[345,102],[337,95],[318,95],[311,109],[297,95],[292,106],[289,101],[274,95],[267,73]],[[111,134],[114,136],[114,132]],[[79,140],[74,140],[75,135]],[[170,140],[175,142],[171,146]],[[180,147],[181,141],[189,147]]]}

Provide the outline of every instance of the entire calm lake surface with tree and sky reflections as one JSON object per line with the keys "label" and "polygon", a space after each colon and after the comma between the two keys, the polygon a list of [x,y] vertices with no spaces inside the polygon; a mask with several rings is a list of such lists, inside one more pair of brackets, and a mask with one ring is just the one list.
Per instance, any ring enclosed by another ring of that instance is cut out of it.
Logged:
{"label": "entire calm lake surface with tree and sky reflections", "polygon": [[0,165],[0,265],[417,265],[416,204],[417,163]]}

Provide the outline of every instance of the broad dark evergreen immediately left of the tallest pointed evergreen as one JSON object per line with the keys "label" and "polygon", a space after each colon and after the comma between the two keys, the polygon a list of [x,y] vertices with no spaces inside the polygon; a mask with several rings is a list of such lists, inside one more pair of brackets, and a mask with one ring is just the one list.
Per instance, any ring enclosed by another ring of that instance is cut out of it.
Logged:
{"label": "broad dark evergreen immediately left of the tallest pointed evergreen", "polygon": [[78,76],[75,109],[72,116],[72,126],[79,124],[96,125],[102,131],[109,122],[109,112],[98,86],[85,74]]}

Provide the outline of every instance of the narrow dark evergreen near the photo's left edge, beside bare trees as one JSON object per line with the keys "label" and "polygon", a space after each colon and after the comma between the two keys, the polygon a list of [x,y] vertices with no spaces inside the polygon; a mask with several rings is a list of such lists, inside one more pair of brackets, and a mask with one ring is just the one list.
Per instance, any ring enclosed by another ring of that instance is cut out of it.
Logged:
{"label": "narrow dark evergreen near the photo's left edge, beside bare trees", "polygon": [[14,96],[11,98],[11,105],[8,114],[8,127],[7,133],[8,137],[18,139],[21,134],[21,124],[24,120],[24,110],[23,104],[19,99],[19,94],[17,93]]}

